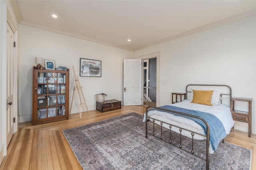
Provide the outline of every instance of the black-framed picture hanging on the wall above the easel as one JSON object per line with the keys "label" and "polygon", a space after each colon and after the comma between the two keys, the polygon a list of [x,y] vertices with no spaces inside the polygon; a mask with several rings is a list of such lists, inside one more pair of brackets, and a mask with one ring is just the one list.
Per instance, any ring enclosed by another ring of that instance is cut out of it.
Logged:
{"label": "black-framed picture hanging on the wall above the easel", "polygon": [[101,77],[101,61],[80,58],[80,76]]}

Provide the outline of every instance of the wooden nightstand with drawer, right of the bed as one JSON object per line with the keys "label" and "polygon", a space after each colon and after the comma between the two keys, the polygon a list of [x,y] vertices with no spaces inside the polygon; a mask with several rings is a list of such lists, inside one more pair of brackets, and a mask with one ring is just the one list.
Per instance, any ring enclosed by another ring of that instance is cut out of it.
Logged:
{"label": "wooden nightstand with drawer, right of the bed", "polygon": [[[235,110],[234,109],[235,101],[248,102],[248,111]],[[230,98],[230,110],[231,110],[232,117],[234,120],[248,123],[248,137],[251,137],[251,133],[252,133],[252,120],[251,120],[252,98],[238,98],[238,97]]]}

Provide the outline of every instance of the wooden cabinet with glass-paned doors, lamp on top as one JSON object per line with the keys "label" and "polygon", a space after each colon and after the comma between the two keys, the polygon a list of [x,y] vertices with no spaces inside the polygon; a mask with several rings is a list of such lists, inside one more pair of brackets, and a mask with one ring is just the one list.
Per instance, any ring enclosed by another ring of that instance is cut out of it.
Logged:
{"label": "wooden cabinet with glass-paned doors, lamp on top", "polygon": [[68,119],[69,69],[40,70],[33,66],[33,125]]}

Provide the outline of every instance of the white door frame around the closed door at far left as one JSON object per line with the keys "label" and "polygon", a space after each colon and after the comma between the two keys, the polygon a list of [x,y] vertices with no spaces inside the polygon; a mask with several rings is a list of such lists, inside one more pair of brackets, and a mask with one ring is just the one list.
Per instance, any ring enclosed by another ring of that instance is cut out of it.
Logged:
{"label": "white door frame around the closed door at far left", "polygon": [[[6,141],[6,55],[7,55],[7,24],[10,25],[12,31],[14,32],[14,40],[16,41],[18,39],[17,31],[18,28],[16,24],[14,23],[14,20],[12,19],[12,15],[10,11],[8,10],[8,7],[5,3],[2,3],[1,6],[1,14],[0,14],[0,22],[1,22],[1,28],[0,28],[0,108],[1,113],[0,114],[0,163],[2,162],[2,158],[7,155],[7,141]],[[16,41],[17,42],[17,41]],[[16,47],[14,49],[14,117],[16,117],[16,123],[14,123],[14,132],[15,133],[18,130],[18,48]]]}

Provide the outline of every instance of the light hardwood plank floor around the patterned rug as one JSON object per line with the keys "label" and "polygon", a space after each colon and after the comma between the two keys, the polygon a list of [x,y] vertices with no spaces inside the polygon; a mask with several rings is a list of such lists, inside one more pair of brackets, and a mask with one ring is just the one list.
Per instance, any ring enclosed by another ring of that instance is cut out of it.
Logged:
{"label": "light hardwood plank floor around the patterned rug", "polygon": [[[18,131],[8,146],[8,155],[4,158],[0,170],[82,170],[76,156],[70,148],[62,130],[101,121],[131,112],[143,114],[144,106],[122,106],[122,109],[100,113],[90,111],[70,115],[70,119],[32,125],[32,122],[20,123]],[[234,130],[225,141],[252,150],[252,166],[256,169],[256,135]]]}

